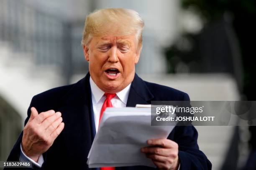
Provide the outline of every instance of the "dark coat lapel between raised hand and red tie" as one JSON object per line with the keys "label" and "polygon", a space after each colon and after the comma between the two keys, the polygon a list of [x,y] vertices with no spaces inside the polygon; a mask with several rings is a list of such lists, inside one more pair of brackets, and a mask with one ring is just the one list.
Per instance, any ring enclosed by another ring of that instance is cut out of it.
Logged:
{"label": "dark coat lapel between raised hand and red tie", "polygon": [[[92,97],[88,73],[83,79],[74,84],[72,89],[63,97],[62,113],[65,127],[63,130],[64,143],[70,158],[77,158],[86,162],[94,134],[91,120]],[[94,118],[93,118],[94,120]]]}

